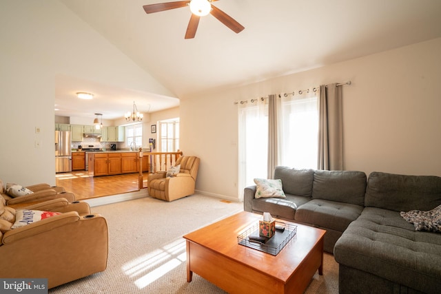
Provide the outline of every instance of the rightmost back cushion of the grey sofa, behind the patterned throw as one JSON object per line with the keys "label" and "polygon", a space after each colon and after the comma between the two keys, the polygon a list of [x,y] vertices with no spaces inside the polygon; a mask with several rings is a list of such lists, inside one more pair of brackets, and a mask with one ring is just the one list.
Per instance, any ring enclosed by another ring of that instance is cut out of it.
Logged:
{"label": "rightmost back cushion of the grey sofa, behind the patterned throw", "polygon": [[373,171],[367,180],[366,207],[393,211],[431,210],[441,204],[441,178]]}

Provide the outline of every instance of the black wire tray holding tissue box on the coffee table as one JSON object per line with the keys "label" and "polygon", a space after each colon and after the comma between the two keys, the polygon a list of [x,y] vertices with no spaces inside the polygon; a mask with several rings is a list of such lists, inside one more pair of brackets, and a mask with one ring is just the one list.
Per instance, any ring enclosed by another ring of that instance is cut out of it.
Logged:
{"label": "black wire tray holding tissue box on the coffee table", "polygon": [[243,233],[240,233],[240,235],[237,236],[237,242],[240,245],[247,246],[258,251],[263,251],[271,255],[278,255],[285,245],[288,244],[289,240],[296,235],[297,226],[278,221],[276,221],[276,224],[285,227],[285,231],[276,230],[276,233],[274,233],[271,238],[267,238],[267,240],[263,243],[252,242],[248,239],[249,236],[259,235],[258,222],[246,229]]}

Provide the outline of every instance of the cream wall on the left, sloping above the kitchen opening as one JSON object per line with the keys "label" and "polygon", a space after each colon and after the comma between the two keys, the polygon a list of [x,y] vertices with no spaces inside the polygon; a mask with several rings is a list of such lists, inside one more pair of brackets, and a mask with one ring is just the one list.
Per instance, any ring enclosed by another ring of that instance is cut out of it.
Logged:
{"label": "cream wall on the left, sloping above the kitchen opening", "polygon": [[59,1],[2,1],[0,19],[3,182],[55,184],[57,74],[173,96]]}

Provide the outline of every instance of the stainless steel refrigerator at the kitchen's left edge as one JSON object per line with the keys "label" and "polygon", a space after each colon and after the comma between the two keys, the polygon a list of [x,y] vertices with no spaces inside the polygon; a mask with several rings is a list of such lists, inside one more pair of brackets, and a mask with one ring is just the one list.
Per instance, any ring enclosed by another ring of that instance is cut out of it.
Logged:
{"label": "stainless steel refrigerator at the kitchen's left edge", "polygon": [[55,131],[55,172],[72,171],[72,149],[70,132]]}

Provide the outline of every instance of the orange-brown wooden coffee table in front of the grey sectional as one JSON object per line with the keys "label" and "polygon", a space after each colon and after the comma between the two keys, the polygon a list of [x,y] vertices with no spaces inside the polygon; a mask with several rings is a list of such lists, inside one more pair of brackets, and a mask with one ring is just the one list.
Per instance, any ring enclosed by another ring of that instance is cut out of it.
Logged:
{"label": "orange-brown wooden coffee table in front of the grey sectional", "polygon": [[303,293],[317,270],[322,275],[326,231],[295,224],[296,235],[278,255],[238,244],[261,218],[243,211],[184,235],[187,281],[197,273],[229,293]]}

